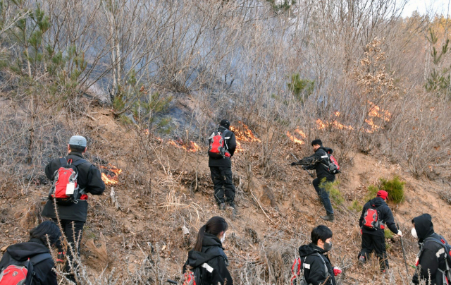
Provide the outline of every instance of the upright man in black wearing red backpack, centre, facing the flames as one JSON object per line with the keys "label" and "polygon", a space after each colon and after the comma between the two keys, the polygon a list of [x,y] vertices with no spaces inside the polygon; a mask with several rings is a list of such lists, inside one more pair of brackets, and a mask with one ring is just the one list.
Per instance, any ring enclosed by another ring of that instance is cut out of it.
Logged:
{"label": "upright man in black wearing red backpack, centre, facing the flames", "polygon": [[[209,138],[209,167],[211,180],[213,181],[214,198],[219,209],[229,207],[236,210],[235,186],[232,180],[233,153],[237,147],[235,133],[229,130],[230,121],[223,119],[220,126]],[[226,198],[224,199],[224,196]]]}

